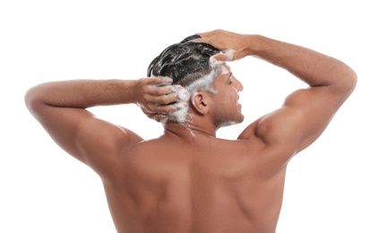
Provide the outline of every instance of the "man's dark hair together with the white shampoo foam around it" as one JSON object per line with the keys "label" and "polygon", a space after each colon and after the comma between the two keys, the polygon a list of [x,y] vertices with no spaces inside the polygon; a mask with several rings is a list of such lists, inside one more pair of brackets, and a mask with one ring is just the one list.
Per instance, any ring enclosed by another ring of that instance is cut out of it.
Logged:
{"label": "man's dark hair together with the white shampoo foam around it", "polygon": [[212,65],[210,57],[218,54],[220,50],[210,44],[192,41],[198,38],[200,38],[199,35],[193,35],[167,47],[148,66],[149,77],[168,76],[173,80],[172,85],[184,87],[184,90],[180,90],[181,93],[177,92],[179,97],[184,96],[177,103],[184,108],[169,114],[163,121],[164,124],[169,119],[186,123],[188,105],[185,102],[188,102],[195,92],[216,92],[213,82],[218,76],[219,65]]}

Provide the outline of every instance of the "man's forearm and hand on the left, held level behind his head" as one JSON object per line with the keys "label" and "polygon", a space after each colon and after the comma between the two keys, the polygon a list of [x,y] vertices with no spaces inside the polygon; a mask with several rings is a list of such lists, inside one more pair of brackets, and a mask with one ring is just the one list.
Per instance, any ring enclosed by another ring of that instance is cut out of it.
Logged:
{"label": "man's forearm and hand on the left, held level behind his head", "polygon": [[25,101],[34,116],[44,109],[90,108],[136,103],[147,114],[168,114],[182,108],[177,91],[167,77],[138,80],[76,80],[46,82],[27,91]]}

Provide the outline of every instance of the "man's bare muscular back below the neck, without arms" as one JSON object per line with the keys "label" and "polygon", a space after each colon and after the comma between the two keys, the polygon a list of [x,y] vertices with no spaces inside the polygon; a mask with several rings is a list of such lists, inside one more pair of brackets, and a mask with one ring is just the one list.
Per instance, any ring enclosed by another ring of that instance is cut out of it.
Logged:
{"label": "man's bare muscular back below the neck, without arms", "polygon": [[117,177],[105,182],[116,229],[275,232],[285,168],[270,171],[260,147],[258,140],[167,133],[125,149]]}

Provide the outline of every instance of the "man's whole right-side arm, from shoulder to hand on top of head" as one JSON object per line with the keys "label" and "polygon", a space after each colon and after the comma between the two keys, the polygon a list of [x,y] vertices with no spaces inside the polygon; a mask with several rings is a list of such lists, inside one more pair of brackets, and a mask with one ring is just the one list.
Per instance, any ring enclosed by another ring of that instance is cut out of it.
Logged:
{"label": "man's whole right-side arm, from shoulder to hand on top of head", "polygon": [[309,85],[291,93],[281,108],[262,116],[240,135],[254,135],[281,154],[296,154],[314,142],[356,86],[357,75],[348,65],[306,47],[225,30],[199,35],[202,39],[197,41],[211,43],[224,52],[211,57],[213,63],[256,56]]}

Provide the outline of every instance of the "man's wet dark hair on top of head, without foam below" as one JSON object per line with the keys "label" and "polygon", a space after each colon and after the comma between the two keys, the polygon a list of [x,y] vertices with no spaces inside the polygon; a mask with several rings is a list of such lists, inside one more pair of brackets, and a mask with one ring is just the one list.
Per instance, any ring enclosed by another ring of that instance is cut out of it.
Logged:
{"label": "man's wet dark hair on top of head, without foam below", "polygon": [[168,76],[172,84],[186,87],[217,69],[210,65],[210,57],[220,50],[192,41],[198,38],[201,37],[192,35],[164,49],[148,66],[147,76]]}

